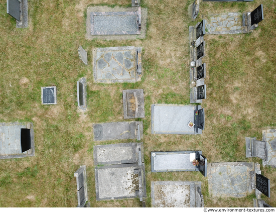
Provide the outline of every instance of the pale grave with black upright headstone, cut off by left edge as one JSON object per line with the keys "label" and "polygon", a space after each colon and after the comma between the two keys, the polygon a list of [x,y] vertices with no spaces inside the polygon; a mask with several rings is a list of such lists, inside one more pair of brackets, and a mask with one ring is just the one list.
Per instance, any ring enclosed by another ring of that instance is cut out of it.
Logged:
{"label": "pale grave with black upright headstone, cut off by left edge", "polygon": [[35,156],[32,123],[0,123],[0,159]]}

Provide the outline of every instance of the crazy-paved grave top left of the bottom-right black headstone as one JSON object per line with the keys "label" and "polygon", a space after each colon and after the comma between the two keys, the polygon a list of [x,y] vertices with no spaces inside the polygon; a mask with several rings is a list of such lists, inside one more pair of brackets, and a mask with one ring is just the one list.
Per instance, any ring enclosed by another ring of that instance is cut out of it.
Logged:
{"label": "crazy-paved grave top left of the bottom-right black headstone", "polygon": [[[258,164],[259,165],[259,164]],[[252,192],[253,162],[208,163],[208,187],[212,196],[244,197]]]}

